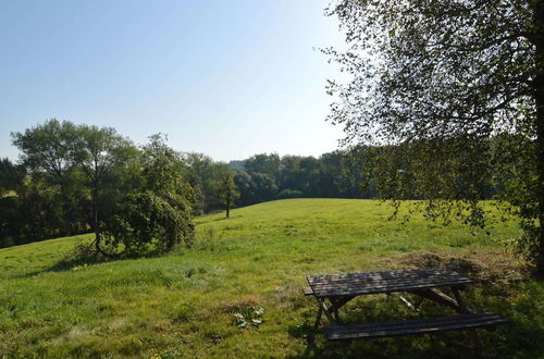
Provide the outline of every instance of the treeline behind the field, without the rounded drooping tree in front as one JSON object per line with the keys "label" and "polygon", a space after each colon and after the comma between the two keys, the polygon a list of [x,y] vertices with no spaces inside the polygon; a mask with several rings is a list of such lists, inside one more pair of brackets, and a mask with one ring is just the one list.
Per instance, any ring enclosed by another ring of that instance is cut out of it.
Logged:
{"label": "treeline behind the field, without the rounded drooping tree in front", "polygon": [[[0,160],[0,247],[91,232],[149,178],[143,172],[146,146],[135,146],[113,128],[51,120],[12,139],[21,158]],[[176,154],[177,190],[194,215],[224,209],[225,173],[239,191],[236,207],[296,197],[375,196],[363,195],[362,171],[343,151],[320,158],[256,154],[231,163],[202,153]]]}

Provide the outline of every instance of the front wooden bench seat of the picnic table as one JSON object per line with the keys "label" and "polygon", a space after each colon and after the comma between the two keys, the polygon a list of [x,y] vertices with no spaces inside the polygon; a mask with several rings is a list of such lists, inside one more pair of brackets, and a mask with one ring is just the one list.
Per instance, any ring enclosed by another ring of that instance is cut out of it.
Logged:
{"label": "front wooden bench seat of the picnic table", "polygon": [[508,321],[493,313],[471,313],[454,317],[407,320],[358,325],[334,325],[323,330],[330,341],[395,337],[415,334],[438,333],[477,327],[494,327]]}

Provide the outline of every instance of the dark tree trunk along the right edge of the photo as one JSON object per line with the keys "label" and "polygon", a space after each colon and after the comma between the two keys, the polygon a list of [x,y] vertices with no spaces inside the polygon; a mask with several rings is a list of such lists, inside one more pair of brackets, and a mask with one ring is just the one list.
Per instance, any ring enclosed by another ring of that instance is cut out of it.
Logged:
{"label": "dark tree trunk along the right edge of the photo", "polygon": [[536,99],[536,144],[539,171],[539,256],[536,271],[544,275],[544,1],[536,1],[536,69],[535,99]]}

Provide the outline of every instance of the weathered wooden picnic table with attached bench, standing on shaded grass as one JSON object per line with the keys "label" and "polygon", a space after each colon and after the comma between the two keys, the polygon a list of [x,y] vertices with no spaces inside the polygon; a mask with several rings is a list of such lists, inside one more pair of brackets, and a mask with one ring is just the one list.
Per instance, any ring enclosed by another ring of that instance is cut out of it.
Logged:
{"label": "weathered wooden picnic table with attached bench, standing on shaded grass", "polygon": [[[494,330],[507,322],[494,313],[471,311],[462,299],[461,292],[475,281],[447,269],[308,275],[307,280],[310,286],[302,288],[304,294],[314,296],[318,300],[314,327],[318,329],[322,314],[325,314],[331,325],[325,327],[323,333],[329,341],[370,339],[468,330],[475,342],[477,350],[481,352],[481,341],[475,329]],[[455,298],[440,290],[444,287],[450,288]],[[338,310],[351,299],[364,295],[391,295],[403,292],[417,295],[415,304],[399,296],[415,311],[419,311],[421,302],[429,299],[455,309],[458,314],[395,322],[342,324]]]}

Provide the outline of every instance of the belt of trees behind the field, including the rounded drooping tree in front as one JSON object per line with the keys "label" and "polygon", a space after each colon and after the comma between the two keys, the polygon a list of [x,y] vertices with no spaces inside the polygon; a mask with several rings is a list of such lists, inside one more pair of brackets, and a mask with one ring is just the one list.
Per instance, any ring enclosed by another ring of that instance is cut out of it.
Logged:
{"label": "belt of trees behind the field, including the rounded drooping tree in front", "polygon": [[95,250],[190,245],[193,215],[294,197],[362,198],[359,164],[256,154],[223,163],[151,136],[136,147],[113,128],[50,120],[13,134],[18,163],[0,161],[0,247],[95,233]]}

